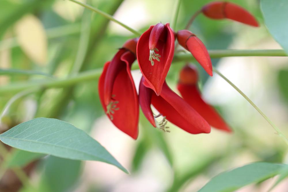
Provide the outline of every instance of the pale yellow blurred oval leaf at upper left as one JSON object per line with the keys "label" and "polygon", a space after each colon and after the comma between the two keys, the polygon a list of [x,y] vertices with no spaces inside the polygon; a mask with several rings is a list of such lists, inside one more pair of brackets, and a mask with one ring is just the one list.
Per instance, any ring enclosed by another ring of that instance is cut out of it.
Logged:
{"label": "pale yellow blurred oval leaf at upper left", "polygon": [[47,60],[47,37],[41,21],[27,15],[15,25],[17,40],[31,60],[45,65]]}

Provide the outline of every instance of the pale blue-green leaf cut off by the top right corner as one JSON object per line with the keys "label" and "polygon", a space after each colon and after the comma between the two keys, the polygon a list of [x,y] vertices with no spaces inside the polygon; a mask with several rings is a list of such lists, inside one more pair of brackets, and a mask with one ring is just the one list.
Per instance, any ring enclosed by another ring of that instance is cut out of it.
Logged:
{"label": "pale blue-green leaf cut off by the top right corner", "polygon": [[288,53],[288,1],[261,0],[261,10],[269,32]]}

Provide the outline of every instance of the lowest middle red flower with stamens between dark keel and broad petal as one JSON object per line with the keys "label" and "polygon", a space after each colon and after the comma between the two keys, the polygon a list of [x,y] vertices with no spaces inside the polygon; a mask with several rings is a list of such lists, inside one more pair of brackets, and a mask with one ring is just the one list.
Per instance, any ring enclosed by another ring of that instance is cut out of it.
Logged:
{"label": "lowest middle red flower with stamens between dark keel and broad petal", "polygon": [[[166,119],[179,128],[192,133],[210,133],[211,128],[207,121],[199,115],[185,100],[173,92],[166,82],[163,84],[160,96],[149,88],[149,84],[142,77],[139,85],[139,104],[145,115],[154,127],[166,130]],[[151,104],[164,117],[158,123],[151,110]],[[165,119],[166,118],[166,119]]]}

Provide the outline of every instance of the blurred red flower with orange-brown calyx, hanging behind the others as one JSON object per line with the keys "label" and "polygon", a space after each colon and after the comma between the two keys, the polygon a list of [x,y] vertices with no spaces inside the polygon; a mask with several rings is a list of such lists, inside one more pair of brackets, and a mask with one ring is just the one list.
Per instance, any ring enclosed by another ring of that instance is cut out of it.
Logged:
{"label": "blurred red flower with orange-brown calyx, hanging behind the others", "polygon": [[214,128],[231,132],[229,126],[201,97],[197,86],[198,73],[195,66],[186,65],[180,72],[180,79],[177,85],[183,99],[191,105],[206,121]]}

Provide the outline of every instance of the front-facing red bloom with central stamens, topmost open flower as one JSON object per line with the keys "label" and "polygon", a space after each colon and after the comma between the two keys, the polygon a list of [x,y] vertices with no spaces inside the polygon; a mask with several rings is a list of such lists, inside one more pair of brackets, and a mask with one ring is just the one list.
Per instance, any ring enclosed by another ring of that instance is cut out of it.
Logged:
{"label": "front-facing red bloom with central stamens, topmost open flower", "polygon": [[169,23],[150,26],[137,43],[137,60],[139,68],[157,95],[169,71],[174,56],[175,38]]}

